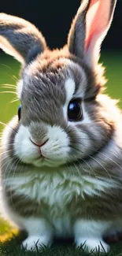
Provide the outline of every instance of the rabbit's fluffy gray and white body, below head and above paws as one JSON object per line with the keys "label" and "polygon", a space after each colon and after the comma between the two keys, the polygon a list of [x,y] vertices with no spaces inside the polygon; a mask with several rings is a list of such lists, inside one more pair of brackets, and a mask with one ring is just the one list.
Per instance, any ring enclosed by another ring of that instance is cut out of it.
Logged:
{"label": "rabbit's fluffy gray and white body, below head and above paws", "polygon": [[[90,232],[94,236],[94,226],[101,237],[122,227],[122,117],[109,97],[99,95],[98,101],[107,107],[114,125],[104,147],[91,158],[69,166],[39,168],[19,165],[18,160],[13,161],[9,156],[6,161],[2,155],[2,204],[6,217],[20,229],[27,230],[29,224],[32,228],[36,218],[43,218],[54,236],[68,238],[74,236],[76,222],[80,220],[85,236],[82,239],[87,239]],[[14,121],[17,122],[17,117]],[[8,127],[5,134],[8,138]],[[4,143],[6,152],[7,142]],[[91,248],[92,244],[93,241]]]}

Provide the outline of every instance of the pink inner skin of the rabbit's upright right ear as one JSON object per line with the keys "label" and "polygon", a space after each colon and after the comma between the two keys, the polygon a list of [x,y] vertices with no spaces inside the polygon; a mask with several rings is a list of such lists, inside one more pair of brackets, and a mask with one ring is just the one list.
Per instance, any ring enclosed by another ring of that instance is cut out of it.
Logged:
{"label": "pink inner skin of the rabbit's upright right ear", "polygon": [[87,11],[86,18],[86,41],[85,50],[87,51],[92,39],[100,36],[109,25],[111,0],[91,0],[91,5]]}

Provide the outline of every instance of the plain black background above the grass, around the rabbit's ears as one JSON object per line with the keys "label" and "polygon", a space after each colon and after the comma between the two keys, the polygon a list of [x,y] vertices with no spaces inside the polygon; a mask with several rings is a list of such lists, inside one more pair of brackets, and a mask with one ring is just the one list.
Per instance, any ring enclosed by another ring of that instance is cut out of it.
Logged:
{"label": "plain black background above the grass, around the rabbit's ears", "polygon": [[[79,5],[80,0],[2,0],[0,12],[31,21],[43,32],[50,48],[60,48],[66,43]],[[117,0],[113,25],[102,47],[107,50],[122,49],[122,0]]]}

